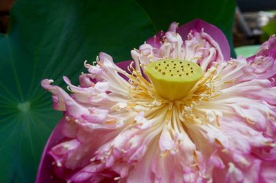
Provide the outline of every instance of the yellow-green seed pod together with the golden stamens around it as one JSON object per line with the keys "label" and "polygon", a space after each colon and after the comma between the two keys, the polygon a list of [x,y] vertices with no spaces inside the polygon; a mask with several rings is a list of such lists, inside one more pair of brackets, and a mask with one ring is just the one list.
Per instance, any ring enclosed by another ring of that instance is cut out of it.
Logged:
{"label": "yellow-green seed pod together with the golden stamens around it", "polygon": [[198,108],[201,102],[212,100],[221,93],[215,84],[221,79],[217,75],[217,64],[203,73],[193,62],[161,59],[149,64],[145,70],[150,82],[132,65],[129,70],[128,107],[135,112],[143,111],[149,121],[163,116],[166,119],[160,122],[166,122],[177,132],[186,131],[184,122],[219,125],[219,115],[210,115]]}

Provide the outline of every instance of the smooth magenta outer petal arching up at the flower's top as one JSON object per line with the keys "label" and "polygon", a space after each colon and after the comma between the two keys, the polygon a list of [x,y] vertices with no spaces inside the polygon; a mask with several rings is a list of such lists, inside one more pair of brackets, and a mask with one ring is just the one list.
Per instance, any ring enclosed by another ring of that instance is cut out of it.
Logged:
{"label": "smooth magenta outer petal arching up at the flower's top", "polygon": [[219,30],[216,26],[213,26],[206,21],[202,21],[201,19],[195,19],[177,28],[177,33],[181,35],[183,40],[186,40],[190,30],[201,32],[202,28],[204,28],[204,32],[210,35],[210,37],[212,37],[217,44],[219,44],[222,55],[224,55],[224,60],[229,60],[230,46],[228,44],[228,40],[226,39],[224,33],[221,32],[221,30]]}

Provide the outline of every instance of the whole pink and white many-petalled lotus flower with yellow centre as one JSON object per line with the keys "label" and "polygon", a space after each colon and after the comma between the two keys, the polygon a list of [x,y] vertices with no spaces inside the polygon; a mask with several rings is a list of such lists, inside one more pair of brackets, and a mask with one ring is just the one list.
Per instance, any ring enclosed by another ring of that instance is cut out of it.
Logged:
{"label": "whole pink and white many-petalled lotus flower with yellow centre", "polygon": [[195,20],[114,64],[85,62],[70,95],[50,79],[64,115],[37,183],[275,182],[276,38],[254,57],[230,58],[223,33]]}

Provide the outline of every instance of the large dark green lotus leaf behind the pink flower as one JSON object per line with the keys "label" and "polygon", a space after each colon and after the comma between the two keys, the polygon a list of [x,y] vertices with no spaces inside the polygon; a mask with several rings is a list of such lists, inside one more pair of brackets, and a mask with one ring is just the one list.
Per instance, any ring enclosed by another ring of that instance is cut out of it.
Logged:
{"label": "large dark green lotus leaf behind the pink flower", "polygon": [[[61,118],[52,110],[43,78],[77,84],[83,61],[100,51],[116,62],[168,28],[201,18],[232,38],[235,2],[18,0],[7,35],[0,35],[0,177],[3,183],[34,182],[39,158]],[[232,43],[230,41],[230,43]]]}

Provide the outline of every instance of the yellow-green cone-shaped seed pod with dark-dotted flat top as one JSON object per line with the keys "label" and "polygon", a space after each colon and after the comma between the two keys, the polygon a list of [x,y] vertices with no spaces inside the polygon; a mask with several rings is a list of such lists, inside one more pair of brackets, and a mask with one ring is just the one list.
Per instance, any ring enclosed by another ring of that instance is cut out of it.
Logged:
{"label": "yellow-green cone-shaped seed pod with dark-dotted flat top", "polygon": [[162,97],[174,101],[185,97],[203,72],[191,61],[161,59],[149,64],[146,74]]}

